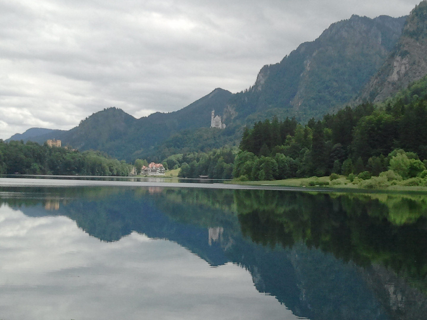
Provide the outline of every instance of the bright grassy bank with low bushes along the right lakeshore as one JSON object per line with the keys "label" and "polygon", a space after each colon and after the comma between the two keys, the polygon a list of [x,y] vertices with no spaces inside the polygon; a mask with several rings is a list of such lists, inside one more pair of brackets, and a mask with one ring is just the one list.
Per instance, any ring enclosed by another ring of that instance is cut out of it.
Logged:
{"label": "bright grassy bank with low bushes along the right lakeshore", "polygon": [[379,182],[379,177],[373,177],[368,180],[354,179],[353,182],[345,176],[339,176],[338,179],[330,180],[330,177],[310,177],[310,178],[294,178],[285,180],[272,181],[226,181],[224,183],[249,185],[249,186],[290,186],[290,187],[328,187],[333,189],[367,189],[367,190],[390,190],[390,191],[421,191],[427,192],[427,186],[410,186],[405,183],[412,183],[413,180],[407,179],[398,181],[386,182],[383,179]]}

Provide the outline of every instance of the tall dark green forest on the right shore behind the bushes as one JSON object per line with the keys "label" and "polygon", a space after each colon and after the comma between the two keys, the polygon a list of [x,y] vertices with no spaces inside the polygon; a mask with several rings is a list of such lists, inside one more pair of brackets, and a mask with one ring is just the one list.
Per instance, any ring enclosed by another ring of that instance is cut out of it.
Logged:
{"label": "tall dark green forest on the right shore behind the bushes", "polygon": [[[405,152],[406,151],[406,152]],[[245,128],[234,177],[273,180],[331,173],[378,176],[393,157],[405,154],[407,176],[415,177],[427,159],[427,77],[383,105],[347,107],[301,125],[273,118]],[[415,171],[414,171],[415,170]]]}

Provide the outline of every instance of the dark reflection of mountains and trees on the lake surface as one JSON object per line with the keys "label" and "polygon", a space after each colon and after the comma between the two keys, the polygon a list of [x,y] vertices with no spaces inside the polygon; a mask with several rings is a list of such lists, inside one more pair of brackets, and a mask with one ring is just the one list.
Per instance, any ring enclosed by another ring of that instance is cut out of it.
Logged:
{"label": "dark reflection of mountains and trees on the lake surface", "polygon": [[3,188],[0,201],[28,217],[69,217],[105,242],[135,231],[213,267],[240,265],[257,291],[297,317],[415,320],[427,312],[424,195]]}

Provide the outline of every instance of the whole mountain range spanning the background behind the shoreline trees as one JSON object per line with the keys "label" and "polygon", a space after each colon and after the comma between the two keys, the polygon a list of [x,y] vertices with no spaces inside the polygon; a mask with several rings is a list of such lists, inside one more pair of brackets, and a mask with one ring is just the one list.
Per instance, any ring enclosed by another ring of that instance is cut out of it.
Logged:
{"label": "whole mountain range spanning the background behind the shoreline trees", "polygon": [[[382,102],[427,74],[426,52],[427,1],[406,17],[353,15],[264,66],[254,85],[240,93],[217,88],[181,110],[140,119],[108,108],[69,131],[31,128],[9,140],[56,138],[128,161],[236,145],[245,125],[272,116],[307,122],[346,105]],[[213,109],[224,130],[209,128]]]}

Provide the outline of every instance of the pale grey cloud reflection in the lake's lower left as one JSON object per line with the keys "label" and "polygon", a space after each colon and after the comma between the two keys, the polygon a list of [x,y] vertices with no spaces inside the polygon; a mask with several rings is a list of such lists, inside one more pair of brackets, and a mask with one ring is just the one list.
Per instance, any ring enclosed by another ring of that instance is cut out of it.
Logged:
{"label": "pale grey cloud reflection in the lake's lower left", "polygon": [[135,232],[99,241],[64,216],[3,204],[0,256],[4,319],[296,319],[237,265]]}

